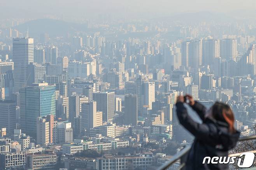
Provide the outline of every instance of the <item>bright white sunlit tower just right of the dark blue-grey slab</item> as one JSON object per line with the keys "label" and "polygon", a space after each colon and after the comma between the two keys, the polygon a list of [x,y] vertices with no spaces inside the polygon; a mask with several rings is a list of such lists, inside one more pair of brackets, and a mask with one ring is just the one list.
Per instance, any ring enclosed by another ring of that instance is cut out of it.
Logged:
{"label": "bright white sunlit tower just right of the dark blue-grey slab", "polygon": [[149,109],[152,109],[152,102],[155,101],[155,82],[145,82],[144,90],[143,106],[148,106]]}

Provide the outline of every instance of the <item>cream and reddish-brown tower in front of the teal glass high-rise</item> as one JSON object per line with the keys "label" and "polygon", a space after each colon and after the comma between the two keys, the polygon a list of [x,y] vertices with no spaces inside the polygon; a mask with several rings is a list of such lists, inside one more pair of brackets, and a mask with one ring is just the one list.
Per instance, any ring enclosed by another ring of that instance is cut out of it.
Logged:
{"label": "cream and reddish-brown tower in front of the teal glass high-rise", "polygon": [[54,115],[37,118],[37,144],[53,143]]}

